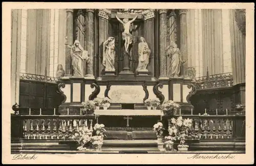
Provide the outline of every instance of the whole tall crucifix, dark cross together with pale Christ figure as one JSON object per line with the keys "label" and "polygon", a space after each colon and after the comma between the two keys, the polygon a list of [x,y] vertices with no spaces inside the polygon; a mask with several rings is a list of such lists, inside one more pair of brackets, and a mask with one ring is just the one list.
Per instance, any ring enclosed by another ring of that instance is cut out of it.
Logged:
{"label": "whole tall crucifix, dark cross together with pale Christ figure", "polygon": [[[130,71],[129,66],[129,46],[133,42],[133,36],[131,34],[133,22],[136,19],[141,19],[142,15],[129,13],[129,9],[125,9],[123,13],[112,15],[111,17],[116,18],[122,25],[124,31],[122,32],[122,39],[124,40],[124,68],[123,70],[126,72]],[[122,19],[122,20],[121,20]],[[132,20],[129,20],[132,19]]]}

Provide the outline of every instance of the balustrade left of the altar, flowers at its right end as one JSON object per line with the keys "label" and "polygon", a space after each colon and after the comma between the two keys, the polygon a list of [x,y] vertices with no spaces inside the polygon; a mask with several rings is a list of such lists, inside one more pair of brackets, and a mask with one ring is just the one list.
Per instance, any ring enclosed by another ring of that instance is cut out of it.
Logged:
{"label": "balustrade left of the altar, flowers at its right end", "polygon": [[71,139],[81,127],[93,131],[94,115],[11,115],[11,137]]}

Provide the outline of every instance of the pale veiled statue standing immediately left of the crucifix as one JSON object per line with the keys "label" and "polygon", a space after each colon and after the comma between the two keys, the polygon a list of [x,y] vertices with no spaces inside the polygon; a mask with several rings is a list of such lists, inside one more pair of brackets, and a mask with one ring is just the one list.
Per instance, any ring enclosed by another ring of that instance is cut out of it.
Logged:
{"label": "pale veiled statue standing immediately left of the crucifix", "polygon": [[115,38],[109,37],[103,42],[103,60],[102,64],[105,71],[115,71]]}

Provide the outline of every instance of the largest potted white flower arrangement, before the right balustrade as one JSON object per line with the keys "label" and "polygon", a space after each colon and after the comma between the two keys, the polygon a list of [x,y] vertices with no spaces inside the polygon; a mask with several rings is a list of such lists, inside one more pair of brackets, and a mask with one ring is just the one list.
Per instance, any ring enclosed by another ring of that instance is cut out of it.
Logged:
{"label": "largest potted white flower arrangement, before the right balustrade", "polygon": [[188,148],[188,146],[184,143],[185,139],[187,139],[188,136],[191,135],[191,126],[192,120],[189,118],[183,119],[182,116],[179,116],[177,120],[174,117],[171,119],[168,133],[173,140],[181,140],[178,148]]}

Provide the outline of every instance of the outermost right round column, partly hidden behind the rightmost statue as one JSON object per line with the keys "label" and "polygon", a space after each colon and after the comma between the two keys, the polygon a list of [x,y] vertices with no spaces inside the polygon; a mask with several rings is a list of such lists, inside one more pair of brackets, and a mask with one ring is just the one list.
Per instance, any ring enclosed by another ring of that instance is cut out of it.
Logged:
{"label": "outermost right round column, partly hidden behind the rightmost statue", "polygon": [[180,53],[183,63],[181,75],[187,76],[187,9],[180,9]]}

